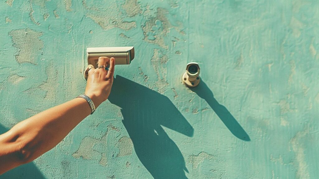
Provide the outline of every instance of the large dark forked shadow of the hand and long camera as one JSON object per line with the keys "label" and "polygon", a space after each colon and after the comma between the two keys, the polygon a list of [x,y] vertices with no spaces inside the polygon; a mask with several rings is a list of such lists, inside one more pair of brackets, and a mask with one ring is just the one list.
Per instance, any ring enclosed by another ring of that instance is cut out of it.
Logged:
{"label": "large dark forked shadow of the hand and long camera", "polygon": [[137,157],[154,178],[187,178],[183,155],[162,126],[189,137],[194,129],[166,96],[117,75],[108,100],[122,108]]}

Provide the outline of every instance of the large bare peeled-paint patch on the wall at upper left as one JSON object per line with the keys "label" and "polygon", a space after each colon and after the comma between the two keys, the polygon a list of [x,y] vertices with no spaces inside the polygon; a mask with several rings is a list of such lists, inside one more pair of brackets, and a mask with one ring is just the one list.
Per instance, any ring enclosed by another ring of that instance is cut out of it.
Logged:
{"label": "large bare peeled-paint patch on the wall at upper left", "polygon": [[39,39],[42,32],[36,32],[29,28],[17,29],[9,32],[12,36],[13,46],[17,48],[15,57],[18,63],[36,63],[36,57],[41,54],[43,41]]}

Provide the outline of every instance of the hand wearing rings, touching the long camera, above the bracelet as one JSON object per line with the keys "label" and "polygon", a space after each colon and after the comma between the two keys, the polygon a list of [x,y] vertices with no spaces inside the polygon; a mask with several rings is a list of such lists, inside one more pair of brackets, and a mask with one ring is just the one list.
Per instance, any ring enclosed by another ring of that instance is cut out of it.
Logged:
{"label": "hand wearing rings, touching the long camera, above the bracelet", "polygon": [[87,84],[85,88],[85,95],[91,98],[95,108],[97,108],[103,101],[108,99],[113,84],[115,59],[109,59],[106,56],[99,57],[99,66],[110,64],[109,70],[105,68],[96,68],[88,71]]}

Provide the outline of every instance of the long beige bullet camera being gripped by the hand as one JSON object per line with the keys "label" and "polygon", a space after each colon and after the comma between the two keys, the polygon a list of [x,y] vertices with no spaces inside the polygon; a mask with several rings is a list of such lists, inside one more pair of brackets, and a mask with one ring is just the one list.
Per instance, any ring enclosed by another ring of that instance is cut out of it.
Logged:
{"label": "long beige bullet camera being gripped by the hand", "polygon": [[[134,59],[134,47],[94,47],[86,48],[87,63],[93,65],[94,68],[98,67],[100,56],[108,58],[115,58],[115,65],[129,65]],[[88,68],[84,71],[84,78],[87,79]]]}

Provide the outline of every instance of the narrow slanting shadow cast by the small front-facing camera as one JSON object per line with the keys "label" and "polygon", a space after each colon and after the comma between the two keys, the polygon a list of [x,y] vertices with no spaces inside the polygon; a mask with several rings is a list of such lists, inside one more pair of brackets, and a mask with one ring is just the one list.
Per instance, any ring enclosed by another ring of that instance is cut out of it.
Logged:
{"label": "narrow slanting shadow cast by the small front-facing camera", "polygon": [[234,134],[234,136],[241,140],[250,141],[246,131],[241,127],[241,125],[227,110],[227,108],[219,104],[219,102],[214,98],[213,92],[208,88],[204,81],[201,81],[197,87],[190,89],[209,104],[209,106],[214,110],[220,120],[226,125],[229,131]]}

